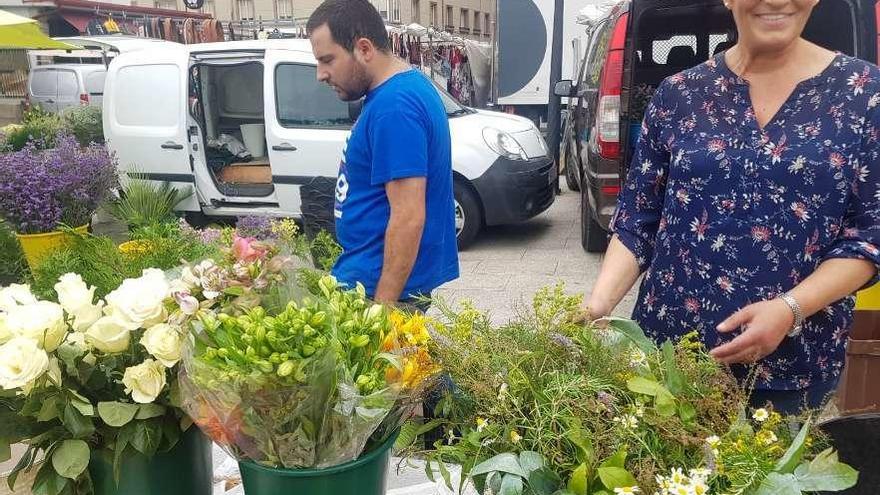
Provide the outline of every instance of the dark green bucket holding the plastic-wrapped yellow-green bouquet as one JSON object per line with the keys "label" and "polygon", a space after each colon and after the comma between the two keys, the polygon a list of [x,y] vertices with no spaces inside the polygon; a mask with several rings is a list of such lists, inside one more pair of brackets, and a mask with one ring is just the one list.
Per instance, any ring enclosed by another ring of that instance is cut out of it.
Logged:
{"label": "dark green bucket holding the plastic-wrapped yellow-green bouquet", "polygon": [[325,469],[282,469],[240,461],[247,495],[385,495],[397,433],[360,458]]}

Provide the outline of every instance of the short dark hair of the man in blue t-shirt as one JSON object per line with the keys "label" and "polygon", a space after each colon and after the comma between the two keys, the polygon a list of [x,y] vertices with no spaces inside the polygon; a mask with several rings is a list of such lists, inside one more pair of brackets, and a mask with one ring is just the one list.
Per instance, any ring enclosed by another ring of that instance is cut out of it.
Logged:
{"label": "short dark hair of the man in blue t-shirt", "polygon": [[333,41],[349,52],[360,38],[373,42],[377,50],[391,50],[385,22],[376,7],[367,0],[326,0],[309,17],[306,29],[311,35],[323,25],[330,28]]}

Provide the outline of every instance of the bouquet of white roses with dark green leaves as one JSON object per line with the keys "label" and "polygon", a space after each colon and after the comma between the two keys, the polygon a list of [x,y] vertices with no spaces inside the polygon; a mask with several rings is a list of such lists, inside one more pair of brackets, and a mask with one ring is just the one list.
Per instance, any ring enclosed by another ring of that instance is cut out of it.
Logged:
{"label": "bouquet of white roses with dark green leaves", "polygon": [[[9,477],[42,452],[34,481],[51,493],[91,491],[95,449],[151,456],[173,447],[192,422],[178,407],[177,363],[183,327],[171,282],[144,270],[101,301],[75,273],[55,285],[57,302],[26,285],[0,289],[0,461],[9,445],[29,450]],[[49,492],[41,492],[49,493]]]}

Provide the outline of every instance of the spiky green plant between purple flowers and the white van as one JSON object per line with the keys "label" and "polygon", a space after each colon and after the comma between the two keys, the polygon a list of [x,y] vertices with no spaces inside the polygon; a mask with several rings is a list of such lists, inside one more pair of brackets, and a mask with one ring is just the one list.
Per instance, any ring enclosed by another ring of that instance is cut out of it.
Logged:
{"label": "spiky green plant between purple flowers and the white van", "polygon": [[175,220],[174,207],[192,196],[192,189],[180,190],[169,182],[156,184],[143,175],[130,174],[120,197],[107,204],[113,218],[130,229],[147,227]]}

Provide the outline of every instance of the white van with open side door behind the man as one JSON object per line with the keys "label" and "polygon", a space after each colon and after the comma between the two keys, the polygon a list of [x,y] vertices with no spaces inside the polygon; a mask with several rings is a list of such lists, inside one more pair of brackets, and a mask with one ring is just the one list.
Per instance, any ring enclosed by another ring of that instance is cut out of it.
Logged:
{"label": "white van with open side door behind the man", "polygon": [[[459,244],[485,225],[546,210],[556,168],[531,121],[440,94],[452,133]],[[359,111],[317,81],[308,40],[123,53],[110,64],[104,95],[104,134],[120,167],[193,186],[178,208],[207,216],[300,217],[302,186],[316,177],[335,183]],[[254,143],[263,134],[265,142]],[[259,155],[250,161],[236,156],[246,139]]]}

